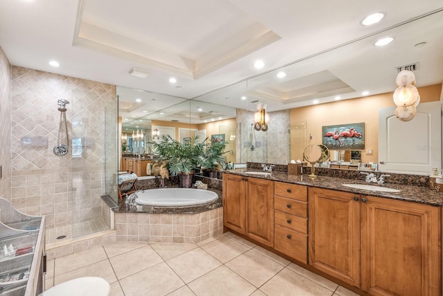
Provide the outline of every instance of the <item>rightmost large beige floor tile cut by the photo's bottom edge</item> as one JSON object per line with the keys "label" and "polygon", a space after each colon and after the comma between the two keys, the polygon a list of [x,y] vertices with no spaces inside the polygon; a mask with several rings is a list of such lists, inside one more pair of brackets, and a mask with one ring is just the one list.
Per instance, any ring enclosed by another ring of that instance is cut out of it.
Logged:
{"label": "rightmost large beige floor tile cut by the photo's bottom edge", "polygon": [[287,268],[260,287],[268,296],[331,296],[332,292]]}

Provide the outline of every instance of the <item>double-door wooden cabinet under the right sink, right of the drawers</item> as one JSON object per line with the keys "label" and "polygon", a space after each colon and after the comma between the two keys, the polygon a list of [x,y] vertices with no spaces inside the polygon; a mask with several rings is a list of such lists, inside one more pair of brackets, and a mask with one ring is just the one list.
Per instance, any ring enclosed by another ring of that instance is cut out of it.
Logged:
{"label": "double-door wooden cabinet under the right sink, right of the drawers", "polygon": [[440,207],[309,188],[309,265],[370,295],[441,295],[440,219]]}

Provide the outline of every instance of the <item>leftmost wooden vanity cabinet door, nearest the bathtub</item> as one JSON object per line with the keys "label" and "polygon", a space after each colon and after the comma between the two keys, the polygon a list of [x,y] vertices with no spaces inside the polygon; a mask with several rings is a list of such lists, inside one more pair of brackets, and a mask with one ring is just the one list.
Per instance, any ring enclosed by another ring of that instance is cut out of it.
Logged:
{"label": "leftmost wooden vanity cabinet door, nearest the bathtub", "polygon": [[246,234],[245,177],[223,174],[223,225]]}

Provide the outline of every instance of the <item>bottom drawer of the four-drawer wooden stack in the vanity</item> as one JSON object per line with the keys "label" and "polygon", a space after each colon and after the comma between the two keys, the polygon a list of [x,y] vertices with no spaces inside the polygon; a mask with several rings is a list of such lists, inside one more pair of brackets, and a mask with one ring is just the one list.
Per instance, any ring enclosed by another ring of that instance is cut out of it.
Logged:
{"label": "bottom drawer of the four-drawer wooden stack in the vanity", "polygon": [[274,249],[302,263],[307,263],[307,235],[275,225]]}

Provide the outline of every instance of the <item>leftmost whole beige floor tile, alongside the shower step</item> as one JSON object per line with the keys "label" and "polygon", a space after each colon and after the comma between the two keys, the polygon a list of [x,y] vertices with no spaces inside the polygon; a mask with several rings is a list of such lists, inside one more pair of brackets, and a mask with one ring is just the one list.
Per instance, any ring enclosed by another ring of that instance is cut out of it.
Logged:
{"label": "leftmost whole beige floor tile, alongside the shower step", "polygon": [[55,259],[54,275],[61,275],[62,273],[70,272],[105,259],[107,259],[107,255],[102,246],[62,256]]}

